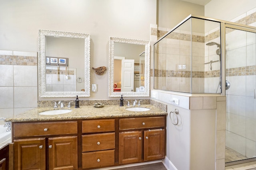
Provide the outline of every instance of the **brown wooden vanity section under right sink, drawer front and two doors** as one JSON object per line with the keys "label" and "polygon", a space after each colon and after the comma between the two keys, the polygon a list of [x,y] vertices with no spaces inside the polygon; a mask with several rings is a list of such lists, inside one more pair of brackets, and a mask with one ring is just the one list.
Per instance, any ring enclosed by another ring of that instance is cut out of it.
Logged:
{"label": "brown wooden vanity section under right sink, drawer front and two doors", "polygon": [[122,118],[119,131],[119,164],[164,158],[165,116]]}

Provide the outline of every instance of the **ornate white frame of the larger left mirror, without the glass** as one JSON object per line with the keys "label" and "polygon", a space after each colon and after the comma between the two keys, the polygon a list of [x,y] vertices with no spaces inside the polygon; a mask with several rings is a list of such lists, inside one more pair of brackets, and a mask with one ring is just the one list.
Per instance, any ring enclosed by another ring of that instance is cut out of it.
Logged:
{"label": "ornate white frame of the larger left mirror, without the glass", "polygon": [[[84,92],[46,92],[46,36],[84,39]],[[90,34],[38,30],[38,96],[40,98],[90,96]]]}

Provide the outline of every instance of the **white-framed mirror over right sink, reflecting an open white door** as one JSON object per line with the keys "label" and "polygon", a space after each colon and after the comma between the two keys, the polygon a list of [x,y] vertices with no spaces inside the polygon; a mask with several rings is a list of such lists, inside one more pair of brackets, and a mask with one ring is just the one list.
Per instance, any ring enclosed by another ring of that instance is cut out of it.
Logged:
{"label": "white-framed mirror over right sink, reflecting an open white door", "polygon": [[109,97],[148,97],[150,41],[109,38]]}

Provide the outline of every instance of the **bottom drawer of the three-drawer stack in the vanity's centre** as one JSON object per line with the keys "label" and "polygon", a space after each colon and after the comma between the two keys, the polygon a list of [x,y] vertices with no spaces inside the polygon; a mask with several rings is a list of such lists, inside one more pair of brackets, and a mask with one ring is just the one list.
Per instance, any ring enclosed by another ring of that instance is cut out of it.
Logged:
{"label": "bottom drawer of the three-drawer stack in the vanity's centre", "polygon": [[82,169],[112,166],[115,164],[115,150],[82,153]]}

